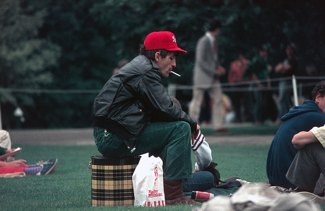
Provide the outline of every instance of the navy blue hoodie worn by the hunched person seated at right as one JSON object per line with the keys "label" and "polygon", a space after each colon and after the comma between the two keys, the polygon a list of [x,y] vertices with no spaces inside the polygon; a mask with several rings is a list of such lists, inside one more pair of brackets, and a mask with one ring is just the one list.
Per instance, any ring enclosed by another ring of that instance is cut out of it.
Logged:
{"label": "navy blue hoodie worn by the hunched person seated at right", "polygon": [[291,162],[298,150],[291,144],[294,135],[301,131],[309,131],[313,127],[325,124],[325,114],[312,100],[305,100],[302,105],[294,106],[284,115],[279,130],[275,134],[267,159],[267,174],[272,186],[296,188],[286,178]]}

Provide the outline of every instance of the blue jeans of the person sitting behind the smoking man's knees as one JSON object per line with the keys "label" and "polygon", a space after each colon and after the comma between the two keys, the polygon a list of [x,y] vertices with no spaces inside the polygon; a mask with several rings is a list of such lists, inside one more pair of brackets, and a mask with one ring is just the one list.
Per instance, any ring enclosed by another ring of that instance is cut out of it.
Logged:
{"label": "blue jeans of the person sitting behind the smoking man's knees", "polygon": [[206,191],[213,188],[214,177],[209,171],[194,172],[192,178],[183,180],[183,192]]}

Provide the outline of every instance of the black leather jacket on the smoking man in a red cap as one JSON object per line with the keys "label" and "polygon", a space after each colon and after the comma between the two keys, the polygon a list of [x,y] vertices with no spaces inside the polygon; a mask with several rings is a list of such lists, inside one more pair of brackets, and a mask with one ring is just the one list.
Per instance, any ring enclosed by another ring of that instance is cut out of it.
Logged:
{"label": "black leather jacket on the smoking man in a red cap", "polygon": [[133,152],[136,139],[149,121],[197,122],[170,100],[161,84],[163,75],[157,64],[140,55],[110,78],[92,107],[93,126],[107,128],[124,139]]}

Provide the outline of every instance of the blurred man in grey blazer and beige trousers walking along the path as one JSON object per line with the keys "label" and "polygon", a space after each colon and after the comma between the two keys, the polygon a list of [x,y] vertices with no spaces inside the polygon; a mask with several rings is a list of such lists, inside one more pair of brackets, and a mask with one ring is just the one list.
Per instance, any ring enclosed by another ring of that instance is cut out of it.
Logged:
{"label": "blurred man in grey blazer and beige trousers walking along the path", "polygon": [[208,91],[213,101],[212,125],[214,132],[228,133],[223,128],[223,101],[219,77],[225,74],[225,69],[220,65],[217,36],[220,34],[221,22],[212,19],[209,29],[200,38],[196,48],[196,59],[193,68],[193,96],[189,104],[189,116],[198,120],[203,101],[204,91]]}

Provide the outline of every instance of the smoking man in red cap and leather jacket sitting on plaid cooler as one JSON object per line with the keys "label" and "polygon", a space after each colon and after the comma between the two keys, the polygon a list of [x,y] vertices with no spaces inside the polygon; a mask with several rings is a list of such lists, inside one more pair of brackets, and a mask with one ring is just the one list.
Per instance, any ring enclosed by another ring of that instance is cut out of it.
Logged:
{"label": "smoking man in red cap and leather jacket sitting on plaid cooler", "polygon": [[180,52],[186,53],[172,32],[148,34],[140,55],[107,81],[92,108],[93,137],[104,156],[149,152],[163,160],[167,205],[196,203],[184,195],[182,180],[192,177],[190,143],[200,126],[171,101],[161,82]]}

